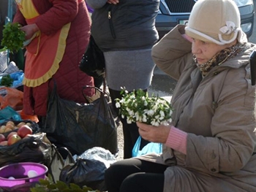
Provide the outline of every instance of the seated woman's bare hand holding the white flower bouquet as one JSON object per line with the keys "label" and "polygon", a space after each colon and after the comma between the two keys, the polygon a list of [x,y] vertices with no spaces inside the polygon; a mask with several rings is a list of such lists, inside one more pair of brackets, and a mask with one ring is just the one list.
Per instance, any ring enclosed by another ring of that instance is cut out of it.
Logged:
{"label": "seated woman's bare hand holding the white flower bouquet", "polygon": [[150,126],[137,122],[140,136],[150,142],[165,143],[170,132],[170,126]]}

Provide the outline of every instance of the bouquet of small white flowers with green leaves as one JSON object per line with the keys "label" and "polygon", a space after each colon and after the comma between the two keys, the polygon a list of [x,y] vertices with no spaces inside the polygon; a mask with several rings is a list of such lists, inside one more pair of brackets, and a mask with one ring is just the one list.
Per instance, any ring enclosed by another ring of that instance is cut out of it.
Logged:
{"label": "bouquet of small white flowers with green leaves", "polygon": [[127,123],[142,122],[152,126],[167,124],[172,121],[173,108],[170,102],[159,96],[152,95],[139,89],[128,92],[124,88],[121,99],[116,99],[116,107],[120,108],[121,117],[127,118]]}

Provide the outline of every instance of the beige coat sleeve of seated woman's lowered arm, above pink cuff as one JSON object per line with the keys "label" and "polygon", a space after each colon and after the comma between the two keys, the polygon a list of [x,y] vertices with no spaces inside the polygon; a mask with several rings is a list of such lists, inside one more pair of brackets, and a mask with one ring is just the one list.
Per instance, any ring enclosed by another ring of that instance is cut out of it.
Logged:
{"label": "beige coat sleeve of seated woman's lowered arm, above pink cuff", "polygon": [[246,80],[249,68],[230,71],[211,119],[212,137],[187,136],[189,168],[211,173],[238,172],[255,151],[255,88]]}

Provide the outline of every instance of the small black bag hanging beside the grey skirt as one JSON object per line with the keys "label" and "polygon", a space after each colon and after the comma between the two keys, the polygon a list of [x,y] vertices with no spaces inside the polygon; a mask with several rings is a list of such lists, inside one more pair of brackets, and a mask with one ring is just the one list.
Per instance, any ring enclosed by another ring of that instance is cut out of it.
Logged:
{"label": "small black bag hanging beside the grey skirt", "polygon": [[79,68],[91,77],[100,77],[105,73],[105,58],[102,50],[99,49],[94,38],[91,36],[89,45],[83,58],[80,61]]}

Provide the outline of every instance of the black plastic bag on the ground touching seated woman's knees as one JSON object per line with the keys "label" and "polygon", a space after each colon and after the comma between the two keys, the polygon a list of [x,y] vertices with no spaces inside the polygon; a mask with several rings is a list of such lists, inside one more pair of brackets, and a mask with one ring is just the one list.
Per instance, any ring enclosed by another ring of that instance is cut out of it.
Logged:
{"label": "black plastic bag on the ground touching seated woman's knees", "polygon": [[77,158],[75,164],[64,166],[59,180],[64,183],[75,183],[80,187],[105,191],[104,173],[107,167],[102,161],[94,159]]}

